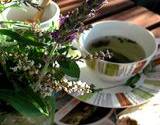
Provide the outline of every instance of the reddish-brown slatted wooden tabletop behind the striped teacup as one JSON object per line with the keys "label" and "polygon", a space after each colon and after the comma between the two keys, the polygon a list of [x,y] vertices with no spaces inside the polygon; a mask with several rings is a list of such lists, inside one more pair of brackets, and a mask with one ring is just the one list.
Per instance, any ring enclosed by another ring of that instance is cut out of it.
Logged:
{"label": "reddish-brown slatted wooden tabletop behind the striped teacup", "polygon": [[[85,0],[59,0],[61,13],[66,14],[83,5]],[[138,24],[151,30],[156,37],[160,37],[160,15],[136,5],[131,0],[108,0],[96,16],[85,20],[85,23],[93,23],[100,20],[123,20]]]}

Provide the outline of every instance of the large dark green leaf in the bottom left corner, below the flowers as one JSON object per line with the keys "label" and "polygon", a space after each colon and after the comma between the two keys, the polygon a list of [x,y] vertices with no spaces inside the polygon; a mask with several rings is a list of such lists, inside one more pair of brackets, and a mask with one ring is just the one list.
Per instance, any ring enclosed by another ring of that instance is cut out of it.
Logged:
{"label": "large dark green leaf in the bottom left corner, below the flowers", "polygon": [[32,104],[31,100],[24,95],[18,95],[12,90],[0,90],[0,99],[8,102],[13,108],[24,116],[41,116],[40,110]]}

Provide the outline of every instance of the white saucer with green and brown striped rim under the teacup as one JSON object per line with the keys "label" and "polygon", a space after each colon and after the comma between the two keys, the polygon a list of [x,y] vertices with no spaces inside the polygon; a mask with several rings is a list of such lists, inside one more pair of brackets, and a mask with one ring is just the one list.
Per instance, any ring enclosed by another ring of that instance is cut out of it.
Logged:
{"label": "white saucer with green and brown striped rim under the teacup", "polygon": [[[160,62],[159,54],[156,56]],[[160,65],[154,66],[154,69],[145,75],[141,74],[141,78],[135,83],[136,87],[132,88],[125,84],[117,85],[103,81],[85,63],[78,64],[81,84],[84,84],[83,86],[94,84],[95,89],[99,89],[84,95],[77,91],[69,93],[85,103],[107,108],[126,108],[143,104],[160,92]]]}

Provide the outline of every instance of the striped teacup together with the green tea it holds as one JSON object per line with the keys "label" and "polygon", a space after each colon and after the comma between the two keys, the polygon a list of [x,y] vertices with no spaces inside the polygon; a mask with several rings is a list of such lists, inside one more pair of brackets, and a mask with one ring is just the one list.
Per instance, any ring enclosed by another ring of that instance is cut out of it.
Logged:
{"label": "striped teacup together with the green tea it holds", "polygon": [[82,55],[98,55],[85,59],[86,66],[103,80],[118,84],[142,72],[158,48],[147,29],[114,20],[92,24],[80,34],[79,45]]}

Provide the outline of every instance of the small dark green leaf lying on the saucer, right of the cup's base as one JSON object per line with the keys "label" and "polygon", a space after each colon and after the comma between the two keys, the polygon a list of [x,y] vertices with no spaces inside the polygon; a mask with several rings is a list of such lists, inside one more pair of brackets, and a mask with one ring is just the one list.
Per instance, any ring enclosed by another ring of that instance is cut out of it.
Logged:
{"label": "small dark green leaf lying on the saucer, right of the cup's base", "polygon": [[141,75],[140,74],[136,74],[135,76],[133,76],[130,79],[128,79],[127,82],[125,83],[125,85],[134,88],[135,84],[139,81],[140,78],[141,78]]}

